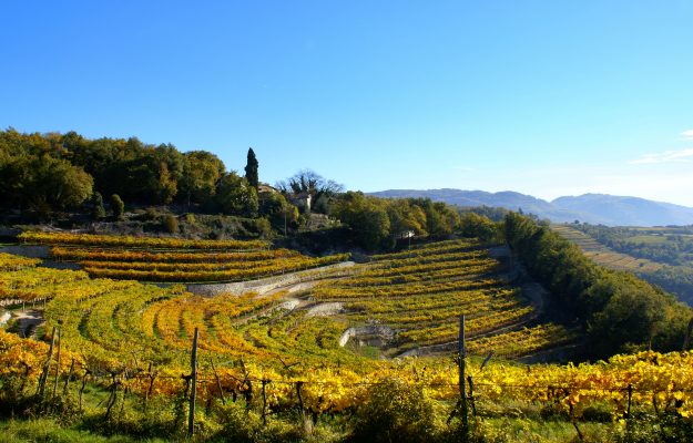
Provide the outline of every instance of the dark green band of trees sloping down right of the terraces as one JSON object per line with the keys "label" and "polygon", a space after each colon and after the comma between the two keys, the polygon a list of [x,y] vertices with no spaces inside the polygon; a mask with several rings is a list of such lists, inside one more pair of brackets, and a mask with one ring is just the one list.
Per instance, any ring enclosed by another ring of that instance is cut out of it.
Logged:
{"label": "dark green band of trees sloping down right of the terraces", "polygon": [[592,357],[681,347],[691,309],[673,296],[598,266],[547,225],[520,214],[506,215],[505,235],[527,270],[550,289],[554,308],[584,327]]}

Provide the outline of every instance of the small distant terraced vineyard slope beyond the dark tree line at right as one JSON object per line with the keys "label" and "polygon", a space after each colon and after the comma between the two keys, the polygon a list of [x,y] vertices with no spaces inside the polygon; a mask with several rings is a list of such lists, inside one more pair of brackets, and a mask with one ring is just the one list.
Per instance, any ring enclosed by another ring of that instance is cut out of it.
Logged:
{"label": "small distant terraced vineyard slope beyond the dark tree line at right", "polygon": [[551,229],[559,233],[567,240],[580,246],[584,254],[597,264],[608,268],[631,272],[654,271],[662,268],[662,265],[659,262],[611,250],[587,234],[568,225],[551,225]]}

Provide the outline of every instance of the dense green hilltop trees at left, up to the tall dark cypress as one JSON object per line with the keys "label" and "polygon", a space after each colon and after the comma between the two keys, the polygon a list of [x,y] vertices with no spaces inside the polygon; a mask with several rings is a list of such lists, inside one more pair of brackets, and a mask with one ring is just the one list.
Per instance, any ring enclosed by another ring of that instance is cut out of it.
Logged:
{"label": "dense green hilltop trees at left, up to the tall dark cypress", "polygon": [[0,206],[22,212],[45,215],[78,208],[99,192],[118,194],[133,205],[179,202],[247,215],[257,212],[257,198],[246,189],[248,182],[254,190],[258,186],[252,150],[246,176],[241,182],[212,153],[181,153],[172,144],[145,144],[136,137],[89,140],[75,132],[0,131]]}

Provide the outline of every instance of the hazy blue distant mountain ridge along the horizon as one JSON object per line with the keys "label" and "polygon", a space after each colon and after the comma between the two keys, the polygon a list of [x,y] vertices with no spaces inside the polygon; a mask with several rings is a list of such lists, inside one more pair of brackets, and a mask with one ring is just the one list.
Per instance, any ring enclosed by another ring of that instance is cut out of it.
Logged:
{"label": "hazy blue distant mountain ridge along the horizon", "polygon": [[511,190],[487,193],[461,189],[388,189],[369,193],[376,197],[422,197],[458,206],[491,206],[522,209],[556,223],[587,222],[607,226],[693,225],[693,208],[640,197],[608,194],[565,196],[547,202]]}

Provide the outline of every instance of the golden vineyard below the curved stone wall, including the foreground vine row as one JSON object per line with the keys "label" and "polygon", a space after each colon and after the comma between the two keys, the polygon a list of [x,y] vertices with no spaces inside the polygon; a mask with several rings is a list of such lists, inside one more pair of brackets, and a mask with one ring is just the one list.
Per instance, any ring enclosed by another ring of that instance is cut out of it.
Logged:
{"label": "golden vineyard below the curved stone wall, including the foreground vine row", "polygon": [[[476,241],[374,256],[327,280],[323,275],[313,286],[264,295],[201,297],[183,286],[93,279],[38,264],[0,254],[0,301],[45,302],[38,341],[12,333],[18,327],[12,321],[9,331],[0,329],[0,375],[23,380],[22,390],[27,384],[40,391],[42,373],[51,372],[55,385],[65,380],[64,390],[71,378],[89,379],[112,390],[111,399],[118,389],[145,401],[185,396],[190,378],[181,374],[187,373],[196,329],[201,404],[231,393],[243,396],[247,408],[259,408],[253,399],[262,395],[263,416],[268,409],[295,408],[314,416],[348,414],[369,401],[373,387],[395,379],[451,409],[459,398],[458,373],[446,346],[455,342],[463,313],[469,352],[496,352],[486,369],[481,359],[470,360],[477,409],[510,404],[514,414],[542,404],[564,411],[575,427],[595,403],[611,419],[630,416],[631,405],[645,410],[650,402],[684,418],[693,414],[690,353],[643,352],[579,367],[499,361],[575,337],[539,323],[527,295],[503,279],[508,269]],[[47,357],[53,327],[60,329],[57,363]],[[366,351],[376,341],[378,357],[415,349],[442,353],[374,359]]]}

